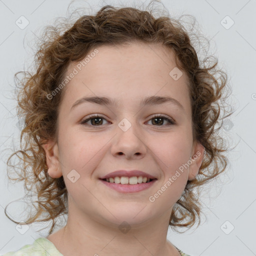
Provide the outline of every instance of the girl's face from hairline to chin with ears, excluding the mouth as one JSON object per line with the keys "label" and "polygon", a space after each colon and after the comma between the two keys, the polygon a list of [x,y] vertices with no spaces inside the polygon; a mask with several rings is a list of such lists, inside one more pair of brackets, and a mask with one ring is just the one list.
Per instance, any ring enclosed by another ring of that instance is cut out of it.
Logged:
{"label": "girl's face from hairline to chin with ears, excluding the mouth", "polygon": [[[66,74],[74,68],[78,72],[64,88],[58,141],[45,145],[48,173],[55,178],[63,175],[68,210],[77,216],[111,225],[170,216],[203,155],[203,147],[192,139],[187,76],[184,71],[178,79],[169,74],[176,66],[173,53],[161,45],[133,43],[97,50],[81,70],[79,62],[67,70]],[[91,96],[115,103],[77,103]],[[172,100],[141,104],[148,97]],[[141,170],[157,179],[144,190],[119,192],[100,178],[120,169]]]}

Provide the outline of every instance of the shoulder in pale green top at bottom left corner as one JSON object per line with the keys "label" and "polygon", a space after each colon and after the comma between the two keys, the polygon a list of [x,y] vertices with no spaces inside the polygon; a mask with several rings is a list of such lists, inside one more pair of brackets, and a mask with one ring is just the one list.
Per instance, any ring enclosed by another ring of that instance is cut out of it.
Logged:
{"label": "shoulder in pale green top at bottom left corner", "polygon": [[26,244],[16,251],[10,251],[2,256],[63,256],[55,245],[44,237],[37,238],[32,244]]}

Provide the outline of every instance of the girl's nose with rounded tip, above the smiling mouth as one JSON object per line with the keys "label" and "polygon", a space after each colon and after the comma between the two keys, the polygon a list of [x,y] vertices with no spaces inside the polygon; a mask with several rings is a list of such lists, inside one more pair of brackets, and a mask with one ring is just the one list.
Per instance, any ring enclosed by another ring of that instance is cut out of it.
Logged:
{"label": "girl's nose with rounded tip, above the smiling mouth", "polygon": [[138,159],[144,157],[146,145],[141,130],[132,124],[127,130],[116,127],[117,134],[112,140],[111,153],[114,156],[125,157],[126,159]]}

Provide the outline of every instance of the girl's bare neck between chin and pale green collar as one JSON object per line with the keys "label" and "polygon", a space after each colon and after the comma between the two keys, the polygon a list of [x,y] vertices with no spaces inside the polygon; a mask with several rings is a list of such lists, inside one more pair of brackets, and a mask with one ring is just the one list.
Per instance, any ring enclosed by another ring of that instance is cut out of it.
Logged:
{"label": "girl's bare neck between chin and pale green collar", "polygon": [[180,256],[175,246],[166,240],[170,211],[139,224],[120,221],[121,226],[72,211],[68,213],[66,225],[47,239],[64,256]]}

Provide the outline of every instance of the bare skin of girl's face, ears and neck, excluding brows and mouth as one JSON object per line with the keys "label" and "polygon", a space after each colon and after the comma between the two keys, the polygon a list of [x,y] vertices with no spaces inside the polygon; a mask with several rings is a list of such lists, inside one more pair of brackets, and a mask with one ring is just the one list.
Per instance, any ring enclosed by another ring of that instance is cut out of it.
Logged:
{"label": "bare skin of girl's face, ears and neck, excluding brows and mouth", "polygon": [[[184,71],[178,80],[169,75],[176,66],[173,53],[161,45],[136,42],[97,49],[65,85],[58,140],[44,145],[48,174],[53,178],[63,175],[68,191],[67,224],[47,239],[64,256],[178,256],[166,240],[171,209],[187,180],[198,173],[204,153],[203,146],[192,139],[187,76]],[[66,73],[77,63],[72,62]],[[170,102],[139,105],[140,99],[153,95],[173,97],[183,110]],[[117,106],[85,102],[70,110],[83,96],[111,97],[118,100]],[[104,119],[100,125],[95,119],[81,124],[89,114]],[[172,118],[175,124],[156,119],[157,124],[153,114]],[[118,126],[123,118],[131,124],[126,131]],[[154,202],[149,201],[196,152],[200,156]],[[80,175],[74,183],[67,178],[72,169]],[[157,181],[145,190],[123,194],[99,180],[118,169],[142,170]],[[123,221],[130,227],[127,233],[118,228]]]}

